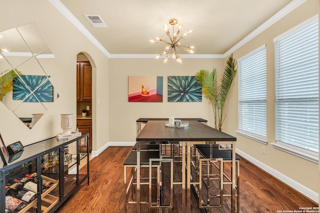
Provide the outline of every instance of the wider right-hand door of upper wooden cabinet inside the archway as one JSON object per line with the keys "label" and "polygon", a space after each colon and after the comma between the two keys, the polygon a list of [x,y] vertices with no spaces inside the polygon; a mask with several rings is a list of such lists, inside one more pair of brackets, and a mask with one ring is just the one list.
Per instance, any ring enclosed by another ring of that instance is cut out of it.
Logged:
{"label": "wider right-hand door of upper wooden cabinet inside the archway", "polygon": [[81,100],[92,99],[92,67],[90,63],[81,63],[80,66],[80,86],[81,86]]}

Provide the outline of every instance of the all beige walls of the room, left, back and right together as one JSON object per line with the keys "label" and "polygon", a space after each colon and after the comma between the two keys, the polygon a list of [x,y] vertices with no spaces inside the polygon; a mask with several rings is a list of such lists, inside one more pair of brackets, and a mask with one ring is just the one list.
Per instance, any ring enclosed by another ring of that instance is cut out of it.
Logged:
{"label": "all beige walls of the room, left, back and right together", "polygon": [[[274,76],[272,39],[318,12],[318,0],[307,0],[289,15],[269,27],[256,38],[234,52],[234,58],[249,53],[266,43],[267,45],[267,139],[274,142]],[[14,15],[18,14],[18,15]],[[93,150],[98,150],[107,142],[133,142],[135,121],[141,117],[200,117],[213,125],[212,109],[203,99],[194,103],[167,102],[167,76],[194,75],[199,69],[217,68],[222,72],[225,59],[183,59],[177,64],[170,60],[163,64],[154,59],[108,59],[90,41],[60,14],[46,0],[1,1],[0,31],[36,21],[55,59],[46,64],[54,89],[59,99],[53,103],[43,118],[31,130],[7,108],[0,104],[0,133],[7,144],[21,141],[23,145],[55,136],[61,131],[59,114],[76,113],[75,101],[75,61],[79,52],[89,58],[93,70],[92,116]],[[107,39],[107,38],[106,38]],[[136,103],[127,100],[128,76],[163,76],[162,103]],[[98,104],[99,100],[99,104]],[[75,124],[75,116],[74,116]],[[266,155],[261,153],[262,144],[236,135],[237,130],[237,80],[233,85],[227,117],[223,131],[237,137],[237,148],[258,161],[297,181],[314,192],[318,192],[317,165],[266,147]],[[104,137],[103,137],[104,136]]]}

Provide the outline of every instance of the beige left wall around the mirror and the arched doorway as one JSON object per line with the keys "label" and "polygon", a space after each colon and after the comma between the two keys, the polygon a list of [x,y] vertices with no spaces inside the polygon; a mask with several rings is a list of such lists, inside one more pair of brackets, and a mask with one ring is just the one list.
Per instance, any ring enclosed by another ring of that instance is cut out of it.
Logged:
{"label": "beige left wall around the mirror and the arched doorway", "polygon": [[[54,91],[60,97],[50,104],[48,111],[29,130],[0,103],[0,133],[6,145],[21,141],[23,145],[34,143],[60,133],[60,113],[73,113],[75,128],[76,55],[84,52],[93,64],[92,113],[94,136],[93,150],[102,147],[108,138],[108,58],[88,41],[49,1],[10,0],[1,1],[0,31],[35,21],[55,58],[43,64],[50,75]],[[96,89],[98,88],[98,90]],[[96,104],[97,98],[100,104]],[[94,103],[93,103],[94,102]],[[105,135],[105,139],[102,139]]]}

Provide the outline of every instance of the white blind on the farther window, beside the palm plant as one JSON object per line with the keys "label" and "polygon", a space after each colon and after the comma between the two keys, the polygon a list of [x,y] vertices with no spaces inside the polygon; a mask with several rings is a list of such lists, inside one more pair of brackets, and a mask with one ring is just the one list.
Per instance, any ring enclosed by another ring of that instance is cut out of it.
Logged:
{"label": "white blind on the farther window, beside the palm plant", "polygon": [[266,137],[266,47],[238,60],[239,130]]}

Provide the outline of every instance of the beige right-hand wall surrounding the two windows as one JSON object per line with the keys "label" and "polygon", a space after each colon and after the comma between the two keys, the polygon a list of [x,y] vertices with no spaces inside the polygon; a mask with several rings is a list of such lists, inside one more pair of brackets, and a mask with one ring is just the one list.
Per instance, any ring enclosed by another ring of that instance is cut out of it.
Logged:
{"label": "beige right-hand wall surrounding the two windows", "polygon": [[[295,157],[285,152],[279,151],[270,143],[274,141],[274,54],[273,38],[303,22],[309,17],[318,13],[318,1],[307,0],[297,9],[286,15],[284,18],[273,24],[271,27],[260,33],[254,39],[236,50],[233,54],[235,58],[240,58],[257,47],[266,44],[267,48],[267,145],[252,141],[248,138],[237,135],[237,92],[234,92],[230,100],[227,113],[225,130],[237,138],[237,148],[250,155],[258,161],[266,164],[274,170],[297,181],[303,186],[318,193],[318,165],[307,160]],[[235,81],[237,84],[237,80]],[[237,88],[237,85],[236,85]],[[262,154],[262,146],[266,148],[266,155]]]}

